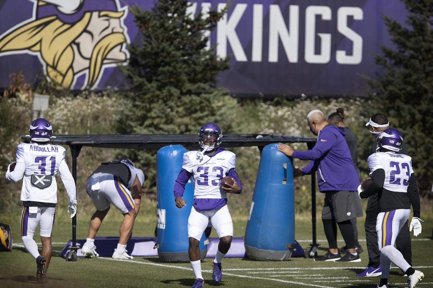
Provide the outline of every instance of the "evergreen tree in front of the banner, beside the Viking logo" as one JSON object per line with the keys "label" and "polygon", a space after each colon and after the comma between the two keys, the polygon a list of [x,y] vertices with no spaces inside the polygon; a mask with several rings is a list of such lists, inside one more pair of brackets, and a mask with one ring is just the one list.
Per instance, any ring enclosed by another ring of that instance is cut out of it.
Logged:
{"label": "evergreen tree in front of the banner, beside the Viking logo", "polygon": [[[152,10],[137,4],[129,8],[143,40],[129,45],[129,65],[121,67],[132,87],[120,133],[197,133],[205,122],[219,120],[214,103],[229,93],[216,85],[216,77],[229,69],[229,58],[219,58],[215,45],[207,48],[205,32],[216,28],[227,8],[194,15],[187,14],[189,5],[187,0],[159,0]],[[148,186],[154,184],[154,152],[128,152],[152,167]]]}

